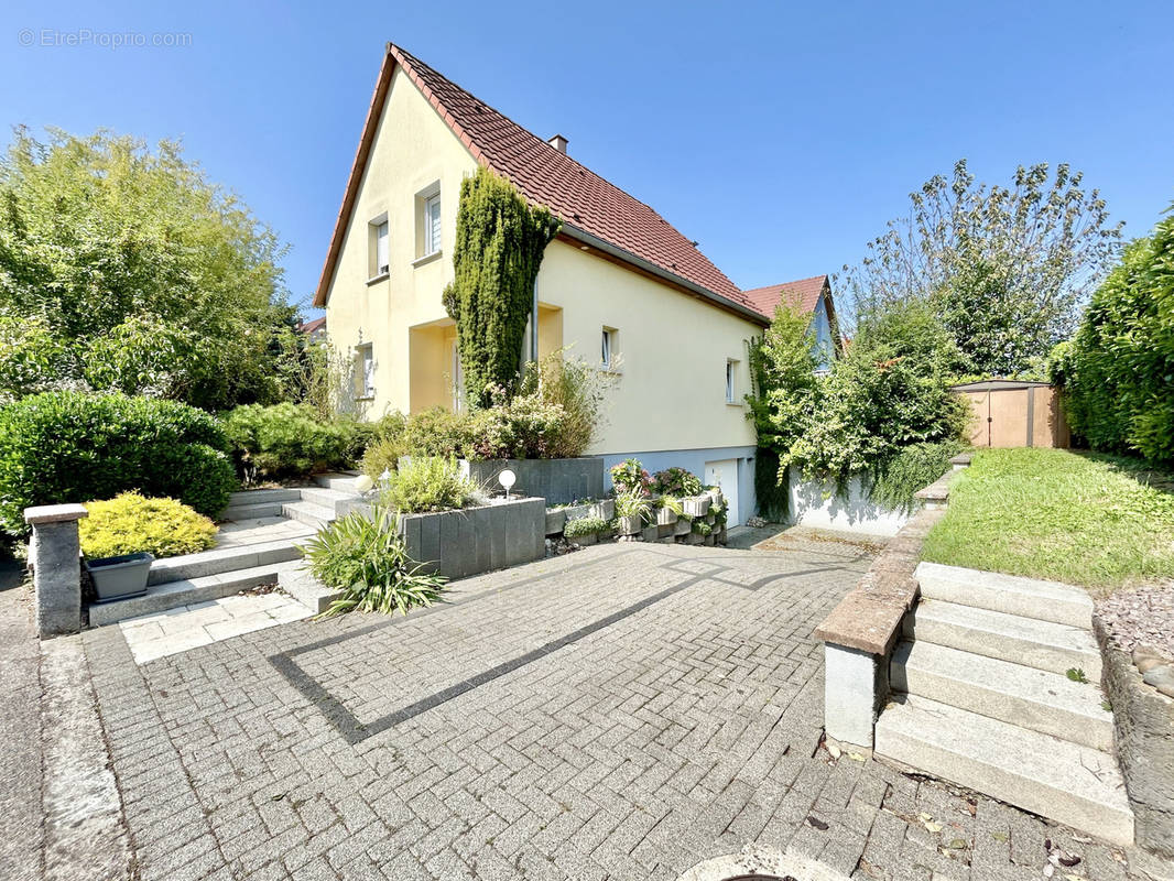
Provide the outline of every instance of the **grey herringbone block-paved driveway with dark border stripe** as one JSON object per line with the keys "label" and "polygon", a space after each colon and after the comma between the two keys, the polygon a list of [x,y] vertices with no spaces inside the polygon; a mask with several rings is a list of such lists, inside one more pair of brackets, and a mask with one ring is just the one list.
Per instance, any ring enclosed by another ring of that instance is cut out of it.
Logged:
{"label": "grey herringbone block-paved driveway with dark border stripe", "polygon": [[136,666],[85,634],[141,877],[676,879],[757,842],[852,879],[1125,877],[1108,848],[819,747],[858,545],[603,545],[405,618]]}

